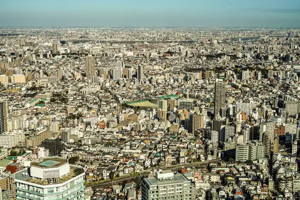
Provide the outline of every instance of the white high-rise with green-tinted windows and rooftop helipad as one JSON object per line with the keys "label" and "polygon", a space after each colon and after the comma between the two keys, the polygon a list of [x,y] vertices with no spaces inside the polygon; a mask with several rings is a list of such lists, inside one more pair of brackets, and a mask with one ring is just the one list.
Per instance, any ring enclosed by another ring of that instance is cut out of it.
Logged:
{"label": "white high-rise with green-tinted windows and rooftop helipad", "polygon": [[61,157],[32,161],[15,173],[16,199],[84,199],[85,172]]}

